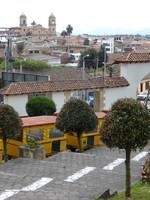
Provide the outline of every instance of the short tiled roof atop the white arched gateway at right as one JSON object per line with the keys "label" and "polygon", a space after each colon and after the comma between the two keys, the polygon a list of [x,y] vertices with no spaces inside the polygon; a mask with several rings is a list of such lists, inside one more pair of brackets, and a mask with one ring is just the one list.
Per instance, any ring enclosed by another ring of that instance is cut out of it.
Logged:
{"label": "short tiled roof atop the white arched gateway at right", "polygon": [[115,63],[145,63],[150,62],[150,52],[129,52],[115,60]]}

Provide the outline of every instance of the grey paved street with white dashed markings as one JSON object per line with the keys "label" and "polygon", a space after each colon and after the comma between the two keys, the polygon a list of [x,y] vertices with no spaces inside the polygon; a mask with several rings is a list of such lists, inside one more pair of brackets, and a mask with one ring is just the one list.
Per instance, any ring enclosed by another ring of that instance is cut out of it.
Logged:
{"label": "grey paved street with white dashed markings", "polygon": [[[132,182],[139,180],[148,147],[131,156]],[[0,200],[93,200],[124,189],[123,151],[105,146],[83,154],[64,151],[45,160],[18,158],[0,165]]]}

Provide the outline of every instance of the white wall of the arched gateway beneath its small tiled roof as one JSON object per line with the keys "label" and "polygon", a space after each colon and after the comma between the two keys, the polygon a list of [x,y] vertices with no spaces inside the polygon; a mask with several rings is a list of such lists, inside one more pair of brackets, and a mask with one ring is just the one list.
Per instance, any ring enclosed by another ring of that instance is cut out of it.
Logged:
{"label": "white wall of the arched gateway beneath its small tiled roof", "polygon": [[126,90],[126,95],[136,98],[137,88],[145,75],[150,73],[150,63],[129,63],[120,65],[121,76],[125,77],[130,87]]}

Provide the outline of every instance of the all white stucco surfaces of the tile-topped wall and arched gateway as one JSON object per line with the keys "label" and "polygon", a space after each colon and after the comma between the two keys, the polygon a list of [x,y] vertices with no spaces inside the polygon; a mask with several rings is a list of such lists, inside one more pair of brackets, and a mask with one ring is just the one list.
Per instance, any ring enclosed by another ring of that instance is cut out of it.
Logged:
{"label": "all white stucco surfaces of the tile-topped wall and arched gateway", "polygon": [[[132,97],[136,99],[137,88],[140,81],[145,75],[150,73],[150,63],[130,63],[120,65],[121,76],[125,77],[129,82],[128,87],[119,88],[105,88],[104,92],[104,109],[109,110],[114,103],[119,98]],[[62,106],[65,103],[64,92],[53,92],[52,99],[56,104],[56,112],[60,112]],[[4,103],[9,104],[14,107],[14,109],[19,113],[20,116],[26,116],[25,105],[28,101],[28,95],[14,95],[5,96]]]}

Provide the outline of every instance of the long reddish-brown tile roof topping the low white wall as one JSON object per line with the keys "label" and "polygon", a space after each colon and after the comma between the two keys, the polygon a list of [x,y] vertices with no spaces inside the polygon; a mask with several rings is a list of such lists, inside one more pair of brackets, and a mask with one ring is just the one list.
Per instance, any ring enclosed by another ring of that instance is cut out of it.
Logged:
{"label": "long reddish-brown tile roof topping the low white wall", "polygon": [[87,90],[98,88],[127,87],[128,81],[124,77],[102,77],[88,80],[64,80],[47,82],[15,82],[0,89],[3,95],[21,95],[33,93]]}

